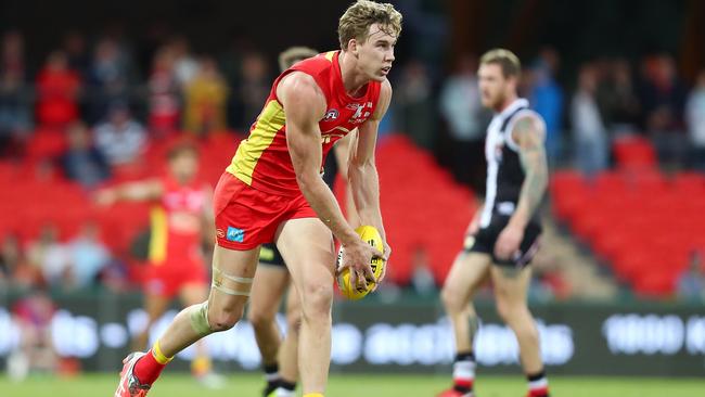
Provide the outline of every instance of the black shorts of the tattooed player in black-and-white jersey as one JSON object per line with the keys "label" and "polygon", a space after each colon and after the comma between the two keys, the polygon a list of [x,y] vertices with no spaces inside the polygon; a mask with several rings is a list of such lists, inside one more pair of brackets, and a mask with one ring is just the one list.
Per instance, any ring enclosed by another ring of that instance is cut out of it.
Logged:
{"label": "black shorts of the tattooed player in black-and-white jersey", "polygon": [[527,266],[538,252],[541,226],[529,222],[526,230],[524,230],[524,240],[520,244],[518,253],[513,258],[499,259],[495,256],[495,244],[507,223],[509,223],[508,216],[492,215],[492,220],[488,227],[479,229],[474,236],[469,235],[465,238],[463,251],[466,253],[489,254],[492,257],[492,262],[498,266],[514,266],[517,268]]}

